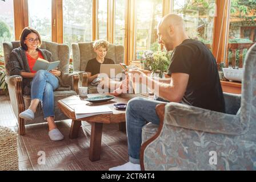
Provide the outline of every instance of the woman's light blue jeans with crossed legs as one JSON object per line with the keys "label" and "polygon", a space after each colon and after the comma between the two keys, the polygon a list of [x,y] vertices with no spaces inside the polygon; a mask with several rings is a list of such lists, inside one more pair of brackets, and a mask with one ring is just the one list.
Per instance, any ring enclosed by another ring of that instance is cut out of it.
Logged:
{"label": "woman's light blue jeans with crossed legs", "polygon": [[31,100],[35,98],[41,101],[45,118],[54,117],[54,94],[53,91],[59,86],[58,78],[53,74],[39,70],[31,83]]}

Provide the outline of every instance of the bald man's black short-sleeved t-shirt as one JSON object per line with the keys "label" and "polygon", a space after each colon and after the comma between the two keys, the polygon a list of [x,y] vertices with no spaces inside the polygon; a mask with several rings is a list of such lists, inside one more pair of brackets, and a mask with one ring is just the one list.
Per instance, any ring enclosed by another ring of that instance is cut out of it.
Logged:
{"label": "bald man's black short-sleeved t-shirt", "polygon": [[183,102],[204,109],[225,112],[217,63],[210,50],[197,40],[186,39],[171,55],[168,75],[189,75]]}

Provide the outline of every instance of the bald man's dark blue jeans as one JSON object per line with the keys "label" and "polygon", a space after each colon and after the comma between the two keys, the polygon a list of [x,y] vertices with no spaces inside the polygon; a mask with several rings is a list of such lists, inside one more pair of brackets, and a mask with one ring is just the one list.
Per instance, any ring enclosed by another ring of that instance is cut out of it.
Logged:
{"label": "bald man's dark blue jeans", "polygon": [[142,142],[142,127],[147,122],[159,125],[159,118],[155,113],[155,106],[166,102],[149,100],[147,98],[135,97],[127,104],[126,130],[128,138],[129,161],[139,164],[139,151]]}

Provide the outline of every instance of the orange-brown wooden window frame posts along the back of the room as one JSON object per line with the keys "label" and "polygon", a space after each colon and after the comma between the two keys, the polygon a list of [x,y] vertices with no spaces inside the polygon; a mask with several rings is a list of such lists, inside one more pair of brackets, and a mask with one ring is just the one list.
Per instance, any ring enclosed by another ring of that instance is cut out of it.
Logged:
{"label": "orange-brown wooden window frame posts along the back of the room", "polygon": [[[98,38],[98,0],[93,1],[92,9],[92,38]],[[15,40],[23,28],[29,26],[28,3],[27,0],[13,0],[14,2],[14,30]],[[230,0],[215,0],[217,5],[217,15],[214,18],[214,35],[213,35],[213,55],[220,63],[225,60],[228,31],[229,31],[229,7]],[[52,0],[51,12],[51,41],[63,43],[63,8],[62,0]],[[174,0],[163,0],[162,16],[173,12]],[[126,0],[125,10],[125,63],[129,65],[134,60],[135,52],[135,0]],[[114,43],[115,34],[115,0],[107,0],[107,40]],[[219,39],[218,39],[219,38]],[[219,41],[221,40],[221,41]],[[163,48],[163,47],[161,47]]]}

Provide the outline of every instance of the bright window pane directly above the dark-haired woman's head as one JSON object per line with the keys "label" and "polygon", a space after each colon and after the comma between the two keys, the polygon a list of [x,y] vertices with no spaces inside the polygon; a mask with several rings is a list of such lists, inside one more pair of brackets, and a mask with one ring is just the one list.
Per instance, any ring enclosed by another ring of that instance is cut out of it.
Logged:
{"label": "bright window pane directly above the dark-haired woman's head", "polygon": [[42,40],[51,40],[51,0],[29,0],[29,26],[35,28]]}

